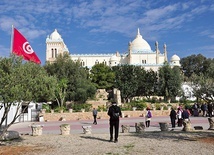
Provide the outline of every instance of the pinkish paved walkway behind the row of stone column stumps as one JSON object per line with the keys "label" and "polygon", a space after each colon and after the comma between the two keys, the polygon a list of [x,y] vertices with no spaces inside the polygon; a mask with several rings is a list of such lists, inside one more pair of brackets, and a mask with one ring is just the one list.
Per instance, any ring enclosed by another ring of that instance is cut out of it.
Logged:
{"label": "pinkish paved walkway behind the row of stone column stumps", "polygon": [[[209,122],[207,117],[190,117],[191,125],[202,126],[203,130],[209,128]],[[109,120],[108,119],[98,119],[98,124],[93,125],[93,120],[78,120],[78,121],[50,121],[50,122],[20,122],[13,124],[9,130],[18,131],[20,134],[32,134],[30,125],[41,124],[43,127],[43,134],[60,134],[59,126],[61,124],[70,124],[71,125],[71,134],[81,134],[83,133],[82,126],[92,126],[92,133],[109,133]],[[132,117],[132,118],[121,118],[121,125],[130,125],[130,132],[135,132],[135,123],[145,122],[144,117]],[[167,116],[155,116],[151,120],[151,125],[149,128],[146,128],[145,131],[160,131],[159,122],[168,122],[170,119]],[[171,124],[169,125],[171,127]],[[175,131],[181,131],[182,127],[176,127]],[[121,132],[121,128],[120,128]]]}

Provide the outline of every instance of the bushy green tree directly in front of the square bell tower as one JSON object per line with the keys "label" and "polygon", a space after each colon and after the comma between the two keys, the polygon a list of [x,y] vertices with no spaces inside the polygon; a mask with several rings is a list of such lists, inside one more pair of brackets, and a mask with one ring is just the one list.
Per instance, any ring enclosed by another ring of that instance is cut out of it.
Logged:
{"label": "bushy green tree directly in front of the square bell tower", "polygon": [[54,63],[47,63],[44,67],[49,75],[58,79],[55,94],[58,105],[64,105],[66,100],[84,103],[95,94],[96,87],[88,78],[88,70],[79,62],[72,61],[68,54],[59,55]]}

